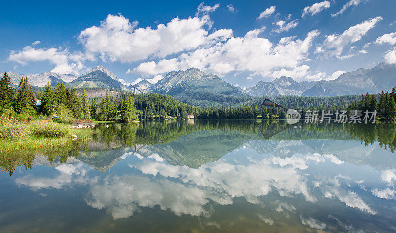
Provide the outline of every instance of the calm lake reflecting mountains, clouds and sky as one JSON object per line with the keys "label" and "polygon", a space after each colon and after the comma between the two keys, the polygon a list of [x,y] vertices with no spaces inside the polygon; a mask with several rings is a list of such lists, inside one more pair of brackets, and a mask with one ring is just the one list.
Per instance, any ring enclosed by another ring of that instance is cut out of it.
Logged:
{"label": "calm lake reflecting mountains, clouds and sky", "polygon": [[0,162],[0,232],[395,232],[396,125],[145,121]]}

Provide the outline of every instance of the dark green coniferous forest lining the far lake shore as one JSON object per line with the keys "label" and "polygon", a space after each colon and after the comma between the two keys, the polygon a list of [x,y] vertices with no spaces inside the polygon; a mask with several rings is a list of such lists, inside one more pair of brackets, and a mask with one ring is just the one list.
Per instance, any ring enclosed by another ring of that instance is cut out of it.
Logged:
{"label": "dark green coniferous forest lining the far lake shore", "polygon": [[[304,118],[307,111],[331,112],[335,118],[337,110],[377,111],[379,119],[394,119],[396,116],[396,88],[380,94],[345,95],[333,97],[303,96],[261,96],[243,97],[237,104],[222,107],[200,108],[187,105],[163,94],[134,94],[130,91],[102,91],[101,89],[66,88],[49,83],[33,93],[27,78],[22,78],[16,90],[4,72],[0,81],[0,113],[18,116],[21,120],[50,118],[67,123],[72,119],[99,121],[134,121],[146,119],[285,119],[285,111],[279,108],[267,109],[261,106],[265,98],[283,106],[293,108]],[[87,95],[87,91],[89,95]],[[103,97],[98,96],[100,93]],[[40,100],[37,101],[36,100]],[[234,99],[235,100],[235,99]],[[39,104],[38,104],[39,103]]]}

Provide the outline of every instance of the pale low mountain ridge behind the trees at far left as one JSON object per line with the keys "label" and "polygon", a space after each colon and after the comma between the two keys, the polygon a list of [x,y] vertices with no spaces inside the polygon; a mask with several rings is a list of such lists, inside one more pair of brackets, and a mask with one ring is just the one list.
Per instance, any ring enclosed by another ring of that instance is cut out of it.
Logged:
{"label": "pale low mountain ridge behind the trees at far left", "polygon": [[[0,71],[1,76],[4,72]],[[57,83],[69,83],[75,80],[77,77],[72,74],[57,74],[53,72],[44,72],[40,74],[17,74],[14,72],[7,72],[11,78],[11,82],[14,87],[18,87],[19,82],[22,78],[27,77],[32,86],[44,87],[47,82],[50,85],[55,86]]]}

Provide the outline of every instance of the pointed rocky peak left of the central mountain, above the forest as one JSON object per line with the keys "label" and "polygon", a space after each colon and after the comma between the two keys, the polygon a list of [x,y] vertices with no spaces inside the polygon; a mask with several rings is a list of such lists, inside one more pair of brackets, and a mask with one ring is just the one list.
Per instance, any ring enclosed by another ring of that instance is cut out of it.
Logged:
{"label": "pointed rocky peak left of the central mountain, above the forest", "polygon": [[71,88],[111,88],[117,90],[129,90],[120,80],[103,66],[97,66],[82,76],[65,84]]}

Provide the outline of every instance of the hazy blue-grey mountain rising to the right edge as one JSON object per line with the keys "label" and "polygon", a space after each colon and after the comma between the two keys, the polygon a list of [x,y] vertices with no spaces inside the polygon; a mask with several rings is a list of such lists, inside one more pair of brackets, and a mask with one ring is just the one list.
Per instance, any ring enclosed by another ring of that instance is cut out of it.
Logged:
{"label": "hazy blue-grey mountain rising to the right edge", "polygon": [[320,81],[303,96],[336,96],[381,93],[396,85],[396,65],[380,63],[372,69],[358,69],[331,81]]}

